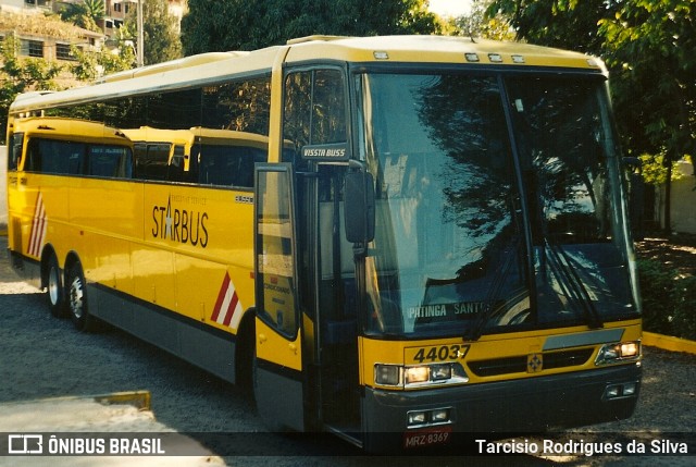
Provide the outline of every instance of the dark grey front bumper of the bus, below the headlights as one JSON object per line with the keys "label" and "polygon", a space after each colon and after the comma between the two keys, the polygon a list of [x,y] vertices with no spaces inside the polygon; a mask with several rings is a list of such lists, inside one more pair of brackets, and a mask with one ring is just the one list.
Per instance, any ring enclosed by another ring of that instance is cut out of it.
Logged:
{"label": "dark grey front bumper of the bus, below the headlights", "polygon": [[[435,444],[450,434],[533,433],[624,419],[635,408],[641,372],[633,364],[422,391],[365,388],[365,447],[386,439],[413,447],[419,439]],[[425,416],[413,416],[419,413]]]}

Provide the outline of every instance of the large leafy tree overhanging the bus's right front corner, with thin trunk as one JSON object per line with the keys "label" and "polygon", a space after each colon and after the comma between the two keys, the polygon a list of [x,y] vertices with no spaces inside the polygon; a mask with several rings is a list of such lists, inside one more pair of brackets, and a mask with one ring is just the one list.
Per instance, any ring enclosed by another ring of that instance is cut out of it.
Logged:
{"label": "large leafy tree overhanging the bus's right front corner, with thin trunk", "polygon": [[696,153],[693,0],[495,0],[497,11],[520,39],[605,59],[629,152],[663,156],[669,230],[672,162]]}

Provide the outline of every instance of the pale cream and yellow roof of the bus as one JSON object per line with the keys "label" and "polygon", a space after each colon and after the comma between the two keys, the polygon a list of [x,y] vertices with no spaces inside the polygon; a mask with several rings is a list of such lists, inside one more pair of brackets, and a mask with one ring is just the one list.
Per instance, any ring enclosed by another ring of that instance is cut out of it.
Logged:
{"label": "pale cream and yellow roof of the bus", "polygon": [[352,63],[534,66],[607,73],[601,61],[593,57],[520,42],[453,36],[309,36],[290,40],[285,46],[253,52],[212,52],[129,70],[107,76],[98,84],[61,93],[34,93],[17,98],[10,107],[10,112],[29,112],[46,107],[213,84],[236,73],[270,74],[279,60],[285,63],[324,60]]}

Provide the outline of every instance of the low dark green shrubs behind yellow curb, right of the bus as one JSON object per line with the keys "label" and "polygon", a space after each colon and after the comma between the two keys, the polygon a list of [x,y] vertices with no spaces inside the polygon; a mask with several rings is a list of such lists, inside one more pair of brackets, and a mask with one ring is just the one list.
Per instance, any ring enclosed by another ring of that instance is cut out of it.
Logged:
{"label": "low dark green shrubs behind yellow curb, right of the bus", "polygon": [[696,340],[696,276],[654,259],[638,260],[643,329]]}

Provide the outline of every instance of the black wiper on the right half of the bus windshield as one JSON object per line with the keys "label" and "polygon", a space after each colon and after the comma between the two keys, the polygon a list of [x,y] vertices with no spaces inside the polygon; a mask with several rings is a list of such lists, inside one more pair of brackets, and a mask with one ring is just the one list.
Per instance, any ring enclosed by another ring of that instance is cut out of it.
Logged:
{"label": "black wiper on the right half of the bus windshield", "polygon": [[585,316],[587,325],[591,329],[604,327],[604,322],[597,312],[597,308],[589,296],[587,287],[577,274],[577,271],[571,263],[566,250],[557,243],[549,239],[548,235],[544,237],[543,249],[548,249],[549,255],[544,255],[548,259],[548,263],[558,279],[559,286],[563,294],[579,307]]}

